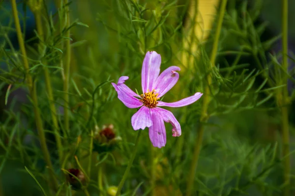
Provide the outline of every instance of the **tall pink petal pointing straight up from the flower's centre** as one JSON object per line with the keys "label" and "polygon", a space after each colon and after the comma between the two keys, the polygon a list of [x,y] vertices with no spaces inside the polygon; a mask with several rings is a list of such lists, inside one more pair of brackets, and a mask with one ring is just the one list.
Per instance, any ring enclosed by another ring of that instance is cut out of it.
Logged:
{"label": "tall pink petal pointing straight up from the flower's centre", "polygon": [[152,86],[155,83],[160,73],[161,55],[155,51],[148,51],[142,68],[142,88],[146,93],[152,91]]}

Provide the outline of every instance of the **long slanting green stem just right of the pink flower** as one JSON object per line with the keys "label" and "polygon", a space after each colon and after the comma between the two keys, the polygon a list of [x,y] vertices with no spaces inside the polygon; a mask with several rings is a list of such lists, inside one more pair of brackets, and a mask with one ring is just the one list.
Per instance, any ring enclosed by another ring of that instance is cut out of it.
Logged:
{"label": "long slanting green stem just right of the pink flower", "polygon": [[[212,46],[212,53],[210,56],[210,69],[212,69],[215,66],[215,59],[216,59],[217,49],[218,49],[218,41],[219,41],[219,36],[220,36],[221,27],[222,27],[224,13],[226,10],[226,3],[227,3],[227,0],[221,0],[220,15],[219,15],[218,21],[217,21],[215,37],[214,37],[214,42],[213,42],[213,46]],[[189,172],[189,176],[188,176],[188,180],[187,180],[186,196],[191,196],[192,191],[193,191],[195,174],[196,174],[199,155],[200,155],[200,151],[202,148],[202,142],[203,142],[204,124],[207,122],[207,119],[208,119],[207,110],[208,110],[208,105],[210,102],[211,81],[212,81],[211,75],[208,74],[208,76],[207,76],[208,83],[205,86],[203,105],[202,105],[202,110],[201,110],[201,119],[200,119],[201,122],[198,127],[199,134],[198,134],[198,139],[197,139],[196,145],[194,147],[193,159],[192,159],[191,168],[190,168],[190,172]]]}

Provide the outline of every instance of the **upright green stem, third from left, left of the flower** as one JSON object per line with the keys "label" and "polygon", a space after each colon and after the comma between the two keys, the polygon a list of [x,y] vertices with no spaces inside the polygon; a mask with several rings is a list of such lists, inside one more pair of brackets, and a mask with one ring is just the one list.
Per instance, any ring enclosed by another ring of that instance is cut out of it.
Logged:
{"label": "upright green stem, third from left, left of the flower", "polygon": [[[64,0],[64,5],[68,4],[68,0]],[[66,27],[70,26],[70,14],[69,7],[66,9]],[[64,65],[64,82],[63,82],[63,91],[64,91],[64,129],[69,131],[69,78],[70,78],[70,61],[71,61],[71,46],[70,46],[70,30],[66,31],[65,37],[65,65]]]}

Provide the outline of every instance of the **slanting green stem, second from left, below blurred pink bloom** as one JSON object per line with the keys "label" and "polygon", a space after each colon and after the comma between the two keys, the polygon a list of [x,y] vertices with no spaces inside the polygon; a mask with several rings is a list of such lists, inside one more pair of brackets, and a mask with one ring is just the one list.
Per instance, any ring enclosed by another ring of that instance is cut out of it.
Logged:
{"label": "slanting green stem, second from left, below blurred pink bloom", "polygon": [[[35,20],[36,20],[36,27],[39,34],[39,38],[41,39],[39,43],[40,54],[43,57],[45,52],[45,47],[44,47],[44,44],[42,43],[44,41],[44,32],[43,32],[43,26],[41,21],[41,10],[35,11]],[[44,60],[42,60],[42,63],[46,64]],[[59,164],[62,164],[61,160],[63,155],[62,155],[62,144],[61,144],[61,139],[59,135],[59,123],[57,119],[57,111],[54,104],[54,98],[52,93],[50,73],[47,67],[44,67],[44,75],[45,75],[46,92],[47,92],[47,97],[49,100],[49,108],[50,108],[50,113],[51,113],[51,118],[53,123],[53,129],[54,129],[58,153],[59,153]]]}

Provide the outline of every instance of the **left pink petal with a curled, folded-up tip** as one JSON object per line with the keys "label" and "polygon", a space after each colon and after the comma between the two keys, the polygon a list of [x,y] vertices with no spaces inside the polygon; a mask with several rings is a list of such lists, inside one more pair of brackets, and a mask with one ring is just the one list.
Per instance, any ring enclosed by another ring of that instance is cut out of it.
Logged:
{"label": "left pink petal with a curled, folded-up tip", "polygon": [[134,93],[128,86],[124,84],[124,81],[128,79],[128,76],[122,76],[118,80],[118,85],[112,83],[113,87],[118,93],[118,99],[120,99],[124,105],[129,108],[137,108],[143,105],[138,98],[139,97],[136,93]]}

